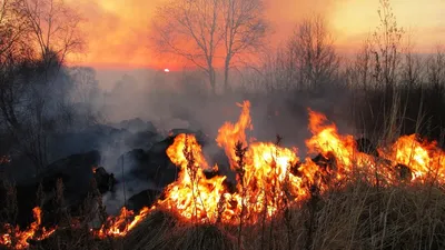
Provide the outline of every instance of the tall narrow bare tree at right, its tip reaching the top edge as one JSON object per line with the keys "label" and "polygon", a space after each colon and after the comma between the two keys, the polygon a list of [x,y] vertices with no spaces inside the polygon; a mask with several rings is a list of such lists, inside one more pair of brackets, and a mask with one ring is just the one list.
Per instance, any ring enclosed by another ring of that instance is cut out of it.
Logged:
{"label": "tall narrow bare tree at right, its tip reaching the top edge", "polygon": [[379,3],[379,26],[365,41],[353,63],[350,71],[355,79],[350,80],[357,90],[356,107],[360,107],[354,108],[358,111],[355,113],[360,124],[357,128],[380,137],[377,139],[392,140],[402,130],[399,121],[406,119],[407,110],[403,100],[408,97],[411,88],[421,82],[421,68],[411,48],[405,58],[402,54],[404,31],[397,26],[389,0]]}

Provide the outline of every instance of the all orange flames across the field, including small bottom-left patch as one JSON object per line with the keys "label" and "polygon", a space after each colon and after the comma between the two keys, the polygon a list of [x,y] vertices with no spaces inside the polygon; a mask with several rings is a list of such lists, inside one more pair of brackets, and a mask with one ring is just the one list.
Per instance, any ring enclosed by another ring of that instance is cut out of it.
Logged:
{"label": "all orange flames across the field, including small bottom-left patch", "polygon": [[[241,108],[238,121],[222,124],[216,138],[236,173],[235,189],[228,188],[225,176],[207,177],[210,174],[206,172],[217,172],[218,166],[209,166],[194,134],[181,133],[167,149],[167,156],[180,171],[177,181],[165,189],[162,199],[137,216],[122,208],[120,214],[109,217],[99,229],[91,229],[92,233],[100,239],[123,237],[158,208],[190,223],[253,224],[273,219],[289,206],[323,196],[333,187],[342,188],[356,178],[382,186],[427,180],[445,182],[445,152],[436,142],[418,140],[416,134],[400,137],[390,146],[378,148],[378,154],[370,156],[358,151],[353,136],[340,134],[324,114],[308,110],[308,130],[313,136],[305,142],[310,157],[301,161],[298,150],[281,147],[279,138],[275,143],[249,138],[250,103],[245,101],[238,106]],[[50,236],[55,230],[40,229],[40,209],[33,212],[36,222],[28,230],[6,227],[0,244],[22,249],[28,247],[28,239]]]}

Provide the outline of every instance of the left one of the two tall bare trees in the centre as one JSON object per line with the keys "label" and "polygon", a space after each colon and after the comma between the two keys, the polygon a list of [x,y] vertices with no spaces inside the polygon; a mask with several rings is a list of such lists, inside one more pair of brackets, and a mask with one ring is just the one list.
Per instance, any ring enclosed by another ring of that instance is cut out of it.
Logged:
{"label": "left one of the two tall bare trees in the centre", "polygon": [[154,19],[155,46],[181,56],[202,69],[216,91],[215,57],[222,41],[220,0],[177,0],[158,9]]}

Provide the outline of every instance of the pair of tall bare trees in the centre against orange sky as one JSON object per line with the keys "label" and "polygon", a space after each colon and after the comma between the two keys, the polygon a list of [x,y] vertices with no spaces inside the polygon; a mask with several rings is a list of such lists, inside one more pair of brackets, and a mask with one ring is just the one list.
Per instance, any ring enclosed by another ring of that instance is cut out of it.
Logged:
{"label": "pair of tall bare trees in the centre against orange sky", "polygon": [[157,51],[185,58],[204,70],[216,93],[216,68],[224,64],[225,89],[234,58],[254,51],[266,32],[261,0],[172,0],[152,23]]}

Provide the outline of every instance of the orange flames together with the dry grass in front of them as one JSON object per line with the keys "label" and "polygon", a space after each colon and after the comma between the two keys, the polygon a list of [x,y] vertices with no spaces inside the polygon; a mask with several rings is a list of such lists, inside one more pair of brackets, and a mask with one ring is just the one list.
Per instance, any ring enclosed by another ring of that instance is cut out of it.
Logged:
{"label": "orange flames together with the dry grass in front of them", "polygon": [[249,139],[249,102],[240,107],[238,122],[216,139],[236,172],[235,190],[224,176],[207,178],[218,166],[207,163],[192,134],[179,134],[167,149],[178,180],[154,207],[138,214],[122,208],[91,234],[131,249],[444,248],[445,152],[435,142],[405,136],[367,154],[309,110],[306,147],[316,157],[301,160],[279,137]]}

